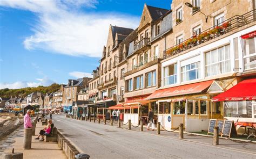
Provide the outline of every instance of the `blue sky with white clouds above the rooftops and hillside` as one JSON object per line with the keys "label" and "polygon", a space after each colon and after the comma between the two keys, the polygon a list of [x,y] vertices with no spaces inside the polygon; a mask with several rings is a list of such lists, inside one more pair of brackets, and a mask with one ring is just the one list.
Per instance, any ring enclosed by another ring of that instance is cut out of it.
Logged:
{"label": "blue sky with white clouds above the rooftops and hillside", "polygon": [[144,3],[171,0],[1,0],[0,89],[91,77],[110,24],[138,27]]}

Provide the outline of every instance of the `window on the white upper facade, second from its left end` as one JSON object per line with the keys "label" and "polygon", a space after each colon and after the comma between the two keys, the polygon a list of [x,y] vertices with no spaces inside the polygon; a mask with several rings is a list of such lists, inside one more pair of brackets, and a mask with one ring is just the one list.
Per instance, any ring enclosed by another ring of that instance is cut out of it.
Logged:
{"label": "window on the white upper facade, second from its left end", "polygon": [[200,61],[181,67],[181,82],[200,78]]}

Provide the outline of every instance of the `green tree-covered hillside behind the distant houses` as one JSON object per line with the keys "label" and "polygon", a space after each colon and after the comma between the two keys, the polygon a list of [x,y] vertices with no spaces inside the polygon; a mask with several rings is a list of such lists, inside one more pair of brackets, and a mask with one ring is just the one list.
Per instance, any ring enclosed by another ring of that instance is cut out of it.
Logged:
{"label": "green tree-covered hillside behind the distant houses", "polygon": [[60,89],[60,85],[57,83],[53,83],[50,86],[38,86],[32,88],[21,88],[21,89],[1,89],[0,90],[0,97],[26,97],[32,92],[42,92],[44,94],[55,92]]}

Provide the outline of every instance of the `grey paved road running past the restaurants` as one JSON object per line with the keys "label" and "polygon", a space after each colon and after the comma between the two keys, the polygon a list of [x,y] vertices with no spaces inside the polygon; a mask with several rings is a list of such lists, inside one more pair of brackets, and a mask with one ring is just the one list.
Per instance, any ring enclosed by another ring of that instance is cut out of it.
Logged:
{"label": "grey paved road running past the restaurants", "polygon": [[152,132],[129,131],[67,119],[60,115],[54,115],[53,121],[76,147],[91,158],[256,158],[256,144],[248,146],[249,151],[240,152],[223,146],[213,147],[193,142],[193,138],[191,141],[179,140],[157,136]]}

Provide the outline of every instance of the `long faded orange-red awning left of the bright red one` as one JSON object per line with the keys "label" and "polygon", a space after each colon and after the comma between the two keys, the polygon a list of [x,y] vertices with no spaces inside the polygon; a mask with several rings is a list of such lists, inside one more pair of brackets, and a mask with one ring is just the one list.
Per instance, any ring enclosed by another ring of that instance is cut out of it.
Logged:
{"label": "long faded orange-red awning left of the bright red one", "polygon": [[174,86],[171,88],[156,90],[147,99],[174,97],[194,93],[206,92],[214,80]]}

